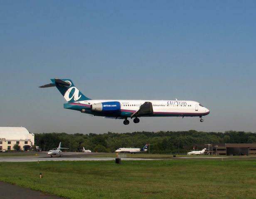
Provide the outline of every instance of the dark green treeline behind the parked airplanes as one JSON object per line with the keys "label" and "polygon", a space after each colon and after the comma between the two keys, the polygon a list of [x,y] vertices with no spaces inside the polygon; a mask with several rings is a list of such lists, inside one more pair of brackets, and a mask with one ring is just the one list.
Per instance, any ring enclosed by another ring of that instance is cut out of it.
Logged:
{"label": "dark green treeline behind the parked airplanes", "polygon": [[[113,153],[121,147],[142,148],[150,144],[150,153],[185,153],[195,146],[206,143],[256,143],[256,133],[244,131],[198,132],[159,131],[103,134],[35,133],[35,145],[43,151],[59,146],[79,151],[83,147],[92,152]],[[201,149],[201,148],[198,148]],[[67,149],[69,151],[69,149]]]}

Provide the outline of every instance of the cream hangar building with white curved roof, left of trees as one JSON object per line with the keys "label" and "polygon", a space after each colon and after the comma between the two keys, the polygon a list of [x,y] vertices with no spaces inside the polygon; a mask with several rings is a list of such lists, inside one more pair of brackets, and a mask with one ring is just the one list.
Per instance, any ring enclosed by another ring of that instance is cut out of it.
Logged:
{"label": "cream hangar building with white curved roof, left of trees", "polygon": [[24,127],[0,127],[0,150],[13,150],[15,144],[27,151],[34,144],[34,133]]}

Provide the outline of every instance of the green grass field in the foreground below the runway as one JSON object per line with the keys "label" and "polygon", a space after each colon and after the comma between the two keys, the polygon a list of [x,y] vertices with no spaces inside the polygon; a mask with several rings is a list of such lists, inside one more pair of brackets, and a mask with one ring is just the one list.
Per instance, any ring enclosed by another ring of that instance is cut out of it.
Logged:
{"label": "green grass field in the foreground below the runway", "polygon": [[256,198],[256,160],[121,163],[2,162],[0,180],[69,199]]}

